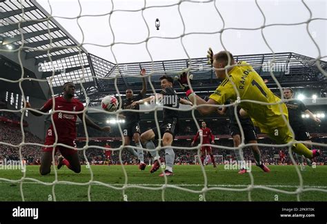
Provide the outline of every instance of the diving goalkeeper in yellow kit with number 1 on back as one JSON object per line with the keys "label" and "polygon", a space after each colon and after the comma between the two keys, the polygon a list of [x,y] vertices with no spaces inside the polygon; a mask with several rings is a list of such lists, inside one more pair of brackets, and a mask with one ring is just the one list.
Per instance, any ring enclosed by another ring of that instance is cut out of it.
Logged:
{"label": "diving goalkeeper in yellow kit with number 1 on back", "polygon": [[[201,114],[217,112],[217,107],[210,105],[223,105],[228,99],[237,101],[237,92],[239,92],[239,98],[242,100],[239,105],[243,109],[241,115],[248,114],[255,125],[261,129],[261,132],[268,134],[277,143],[285,144],[293,141],[293,135],[284,121],[286,119],[288,122],[288,110],[285,103],[279,103],[281,101],[279,97],[268,89],[264,80],[255,72],[252,66],[245,61],[236,63],[232,54],[228,51],[221,51],[214,55],[212,50],[209,49],[208,53],[209,62],[215,68],[216,77],[221,80],[220,85],[210,95],[208,101],[201,99],[190,89],[189,84],[192,81],[192,74],[188,75],[184,72],[178,79],[188,99],[193,104],[200,105],[197,110]],[[244,100],[273,104],[264,105]],[[308,159],[313,159],[313,157],[320,154],[320,150],[309,150],[302,143],[294,143],[292,150]]]}

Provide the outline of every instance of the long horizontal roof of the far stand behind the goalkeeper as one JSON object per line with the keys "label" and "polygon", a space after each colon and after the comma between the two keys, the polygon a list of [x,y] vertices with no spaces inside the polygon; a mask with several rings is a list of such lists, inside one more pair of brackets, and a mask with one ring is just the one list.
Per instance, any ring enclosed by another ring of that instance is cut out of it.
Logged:
{"label": "long horizontal roof of the far stand behind the goalkeeper", "polygon": [[[215,90],[217,83],[219,83],[212,68],[207,64],[207,58],[153,61],[153,64],[152,61],[147,61],[115,65],[95,55],[89,55],[90,63],[95,72],[97,87],[87,89],[86,94],[95,101],[101,99],[106,94],[117,94],[115,78],[117,78],[117,88],[121,94],[127,88],[139,90],[141,86],[139,71],[141,68],[146,68],[148,73],[153,72],[151,83],[154,85],[155,90],[161,89],[159,82],[161,75],[170,74],[175,76],[176,72],[180,72],[190,65],[192,68],[191,72],[194,74],[193,79],[196,80],[192,83],[192,88],[195,91],[208,92],[208,90]],[[250,63],[263,79],[268,80],[267,85],[269,88],[277,88],[277,84],[273,81],[270,73],[270,71],[273,71],[282,87],[314,87],[320,88],[320,90],[327,90],[327,77],[317,67],[317,63],[319,63],[322,70],[326,71],[326,61],[319,61],[293,52],[235,55],[234,57],[236,61],[247,61]],[[275,63],[270,66],[270,62],[273,61],[274,57]],[[176,89],[177,92],[181,91],[178,87]],[[148,92],[152,92],[150,86]]]}

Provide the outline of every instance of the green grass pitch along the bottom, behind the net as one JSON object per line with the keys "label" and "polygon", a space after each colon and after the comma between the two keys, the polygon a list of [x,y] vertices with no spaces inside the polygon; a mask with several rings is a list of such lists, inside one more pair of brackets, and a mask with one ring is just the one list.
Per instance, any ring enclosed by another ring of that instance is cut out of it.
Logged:
{"label": "green grass pitch along the bottom, behind the net", "polygon": [[[299,185],[299,176],[293,165],[277,166],[270,165],[270,173],[262,172],[258,167],[252,167],[252,175],[255,185],[264,185],[277,190],[295,192]],[[123,186],[126,178],[121,165],[95,165],[91,166],[94,174],[93,181],[101,181],[111,187],[93,183],[90,187],[90,199],[92,201],[123,201]],[[136,165],[124,166],[128,175],[128,187],[124,194],[128,201],[199,201],[203,198],[201,192],[188,192],[186,190],[201,191],[204,188],[204,174],[199,165],[175,165],[175,176],[169,176],[167,184],[181,187],[175,189],[166,187],[165,179],[159,177],[159,171],[150,174],[150,167],[145,171],[138,170]],[[212,187],[224,187],[226,189],[245,189],[250,184],[248,174],[237,174],[237,170],[224,170],[223,165],[213,168],[211,165],[205,167],[208,178],[208,191],[206,201],[248,201],[248,191],[235,192],[217,190]],[[319,190],[302,192],[299,194],[301,201],[327,201],[327,166],[317,166],[315,169],[306,167],[301,172],[304,180],[304,189],[319,187]],[[23,176],[20,170],[0,170],[0,178],[19,180]],[[39,175],[39,166],[27,166],[26,178],[37,179],[45,183],[55,180],[54,171],[50,175]],[[58,181],[72,181],[85,184],[90,181],[90,169],[82,166],[80,174],[75,174],[67,167],[58,171]],[[134,187],[131,187],[131,185]],[[114,189],[113,187],[119,187]],[[138,187],[153,187],[152,190]],[[24,180],[23,195],[25,201],[53,201],[52,185],[43,185],[27,179]],[[68,185],[57,183],[54,186],[57,201],[88,201],[88,185]],[[297,194],[286,194],[285,192],[273,192],[264,189],[252,189],[250,196],[252,201],[297,201]],[[8,183],[0,180],[0,201],[21,201],[20,183]]]}

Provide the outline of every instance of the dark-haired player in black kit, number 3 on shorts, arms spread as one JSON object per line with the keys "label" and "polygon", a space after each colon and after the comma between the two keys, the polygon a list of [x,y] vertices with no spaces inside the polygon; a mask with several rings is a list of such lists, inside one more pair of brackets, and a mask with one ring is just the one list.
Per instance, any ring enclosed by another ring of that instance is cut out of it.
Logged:
{"label": "dark-haired player in black kit, number 3 on shorts, arms spread", "polygon": [[[168,76],[162,76],[160,77],[161,81],[161,92],[160,94],[157,94],[156,96],[150,96],[146,99],[141,99],[139,101],[135,101],[132,103],[132,106],[134,107],[137,104],[141,103],[146,103],[150,101],[161,101],[162,104],[164,105],[163,109],[163,116],[164,116],[164,121],[160,125],[160,133],[164,134],[162,136],[162,144],[165,149],[165,159],[166,159],[166,170],[165,174],[166,176],[172,176],[172,166],[174,165],[175,162],[175,152],[172,150],[172,141],[174,140],[175,134],[178,132],[178,108],[179,108],[179,103],[181,104],[187,104],[187,105],[192,105],[190,101],[187,101],[185,99],[181,99],[177,96],[177,93],[175,90],[172,88],[172,85],[174,83],[174,79],[172,77]],[[167,107],[167,108],[165,108]],[[171,110],[169,108],[175,108],[175,110]],[[159,139],[159,133],[156,128],[153,128],[151,130],[148,130],[146,132],[143,132],[141,134],[141,142],[143,145],[146,145],[146,148],[148,150],[154,150],[155,149],[155,144],[152,142],[154,139]],[[151,173],[156,172],[160,165],[159,165],[159,159],[160,156],[156,151],[151,151],[150,152],[151,156],[155,159],[155,162],[152,165],[152,168],[150,170]],[[160,174],[159,176],[164,176],[164,174]]]}

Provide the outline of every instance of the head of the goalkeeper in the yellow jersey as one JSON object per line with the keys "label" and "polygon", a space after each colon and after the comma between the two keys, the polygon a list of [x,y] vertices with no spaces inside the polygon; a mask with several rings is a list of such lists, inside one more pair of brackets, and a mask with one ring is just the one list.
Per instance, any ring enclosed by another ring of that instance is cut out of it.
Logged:
{"label": "head of the goalkeeper in the yellow jersey", "polygon": [[[230,61],[228,63],[228,55],[230,57]],[[213,67],[214,68],[224,68],[227,65],[232,65],[234,64],[234,57],[232,57],[232,54],[227,51],[221,51],[213,56]],[[226,77],[226,70],[215,70],[216,72],[216,77],[218,79],[225,79]]]}

